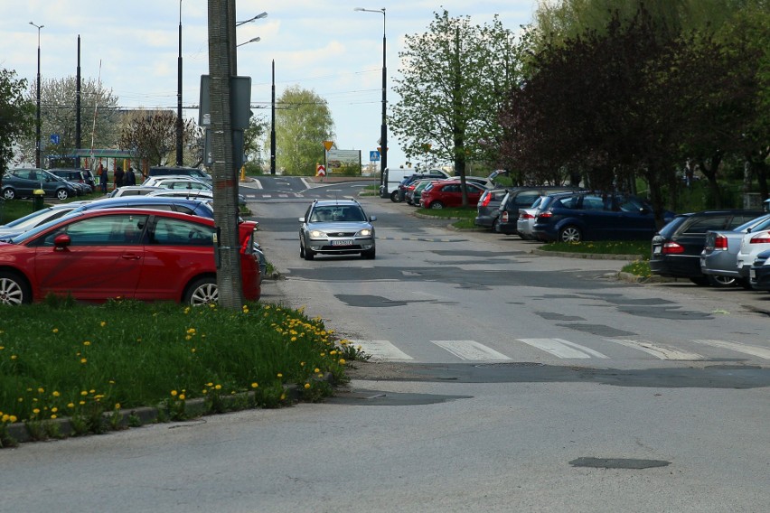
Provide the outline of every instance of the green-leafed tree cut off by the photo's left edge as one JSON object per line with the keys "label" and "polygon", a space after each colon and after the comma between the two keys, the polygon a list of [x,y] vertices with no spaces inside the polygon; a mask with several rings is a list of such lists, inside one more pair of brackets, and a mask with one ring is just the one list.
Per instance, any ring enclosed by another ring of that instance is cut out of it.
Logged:
{"label": "green-leafed tree cut off by the photo's left edge", "polygon": [[13,161],[16,142],[33,134],[35,106],[23,96],[26,80],[15,76],[0,70],[0,173]]}

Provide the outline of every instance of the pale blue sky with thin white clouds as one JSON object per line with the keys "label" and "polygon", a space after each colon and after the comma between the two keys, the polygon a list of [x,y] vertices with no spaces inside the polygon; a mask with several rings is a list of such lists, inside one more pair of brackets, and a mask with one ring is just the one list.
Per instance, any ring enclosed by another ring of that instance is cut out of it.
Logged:
{"label": "pale blue sky with thin white clouds", "polygon": [[[324,98],[334,121],[338,149],[361,150],[362,163],[380,139],[383,16],[355,7],[385,8],[388,105],[400,75],[399,51],[406,35],[425,33],[434,13],[470,16],[491,23],[498,14],[505,28],[531,23],[537,0],[238,0],[236,18],[268,16],[237,29],[238,74],[251,77],[251,105],[270,119],[271,67],[276,98],[292,86]],[[182,23],[183,116],[198,119],[201,75],[209,72],[208,2],[203,0],[0,0],[0,67],[33,83],[37,75],[38,32],[41,77],[98,79],[118,98],[119,107],[176,110],[179,23]],[[181,14],[181,16],[180,16]],[[30,22],[42,25],[38,31]],[[390,110],[389,110],[390,112]],[[45,134],[42,137],[46,137]],[[390,167],[406,162],[389,130]],[[85,138],[85,137],[84,137]],[[280,142],[278,142],[280,145]],[[268,157],[269,158],[269,157]]]}

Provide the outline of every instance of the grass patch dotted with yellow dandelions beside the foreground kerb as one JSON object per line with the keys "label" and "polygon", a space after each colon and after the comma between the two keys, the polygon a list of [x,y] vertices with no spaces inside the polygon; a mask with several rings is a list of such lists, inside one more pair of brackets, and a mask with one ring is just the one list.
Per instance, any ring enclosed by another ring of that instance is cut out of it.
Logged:
{"label": "grass patch dotted with yellow dandelions beside the foreground kerb", "polygon": [[0,447],[5,427],[23,422],[45,432],[69,417],[85,433],[99,419],[139,406],[162,406],[167,418],[183,416],[184,402],[202,398],[207,413],[223,398],[247,396],[242,407],[290,403],[332,394],[331,373],[361,359],[347,340],[335,340],[319,318],[277,304],[254,303],[240,312],[175,303],[110,301],[0,307]]}

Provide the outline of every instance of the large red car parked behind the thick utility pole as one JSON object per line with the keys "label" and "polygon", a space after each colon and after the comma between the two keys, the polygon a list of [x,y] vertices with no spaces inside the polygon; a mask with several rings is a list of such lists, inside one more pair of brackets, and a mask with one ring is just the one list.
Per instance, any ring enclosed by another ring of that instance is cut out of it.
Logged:
{"label": "large red car parked behind the thick utility pole", "polygon": [[[257,301],[258,223],[239,224],[243,295]],[[219,299],[213,219],[144,209],[88,210],[0,243],[0,303],[42,301],[47,294],[193,305]]]}

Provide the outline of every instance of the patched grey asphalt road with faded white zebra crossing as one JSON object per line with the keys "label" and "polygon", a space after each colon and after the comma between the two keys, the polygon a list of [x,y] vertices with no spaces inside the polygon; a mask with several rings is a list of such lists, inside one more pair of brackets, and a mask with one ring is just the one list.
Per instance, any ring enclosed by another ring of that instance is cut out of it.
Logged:
{"label": "patched grey asphalt road with faded white zebra crossing", "polygon": [[535,256],[378,198],[376,260],[306,262],[308,201],[360,185],[253,185],[284,276],[263,299],[371,361],[324,404],[4,450],[0,510],[766,510],[770,343],[745,296],[618,281],[623,262]]}

